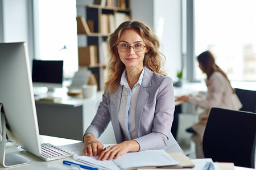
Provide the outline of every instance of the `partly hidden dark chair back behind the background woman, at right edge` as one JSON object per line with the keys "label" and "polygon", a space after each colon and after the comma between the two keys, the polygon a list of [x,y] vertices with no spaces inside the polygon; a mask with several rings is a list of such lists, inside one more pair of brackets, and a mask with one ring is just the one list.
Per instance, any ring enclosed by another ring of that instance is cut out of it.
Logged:
{"label": "partly hidden dark chair back behind the background woman, at right edge", "polygon": [[241,101],[243,107],[240,111],[256,112],[256,91],[235,88],[236,94]]}

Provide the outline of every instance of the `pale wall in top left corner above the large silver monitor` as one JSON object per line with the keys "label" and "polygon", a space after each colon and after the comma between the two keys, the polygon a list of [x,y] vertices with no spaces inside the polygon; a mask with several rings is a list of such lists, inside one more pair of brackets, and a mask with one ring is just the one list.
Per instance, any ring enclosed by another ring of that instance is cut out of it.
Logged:
{"label": "pale wall in top left corner above the large silver monitor", "polygon": [[34,57],[32,0],[0,0],[0,42],[27,42]]}

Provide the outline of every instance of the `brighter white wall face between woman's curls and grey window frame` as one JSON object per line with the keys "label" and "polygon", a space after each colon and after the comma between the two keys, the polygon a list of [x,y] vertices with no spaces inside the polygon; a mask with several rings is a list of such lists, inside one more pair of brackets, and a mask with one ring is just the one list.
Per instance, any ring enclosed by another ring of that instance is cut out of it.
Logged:
{"label": "brighter white wall face between woman's curls and grey window frame", "polygon": [[[181,68],[181,1],[180,0],[155,0],[154,27],[156,31],[161,29],[159,23],[163,23],[162,36],[163,54],[166,56],[166,72],[176,81],[177,71]],[[160,28],[159,28],[160,27]]]}

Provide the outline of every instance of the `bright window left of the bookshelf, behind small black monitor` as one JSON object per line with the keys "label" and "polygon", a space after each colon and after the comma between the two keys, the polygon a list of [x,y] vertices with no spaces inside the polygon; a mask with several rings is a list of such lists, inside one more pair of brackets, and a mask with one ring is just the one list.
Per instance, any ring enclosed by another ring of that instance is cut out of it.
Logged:
{"label": "bright window left of the bookshelf, behind small black monitor", "polygon": [[64,77],[72,78],[78,69],[76,1],[34,0],[34,25],[35,59],[63,60]]}

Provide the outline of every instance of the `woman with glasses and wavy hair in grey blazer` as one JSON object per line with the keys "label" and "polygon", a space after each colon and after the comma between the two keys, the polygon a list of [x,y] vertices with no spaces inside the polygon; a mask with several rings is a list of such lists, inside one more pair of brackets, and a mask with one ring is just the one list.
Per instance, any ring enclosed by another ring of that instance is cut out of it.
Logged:
{"label": "woman with glasses and wavy hair in grey blazer", "polygon": [[[129,21],[119,25],[107,42],[108,79],[103,101],[85,131],[84,154],[111,160],[127,152],[182,151],[171,134],[174,89],[161,70],[164,56],[158,37],[147,25]],[[97,138],[110,121],[117,145],[103,150]]]}

